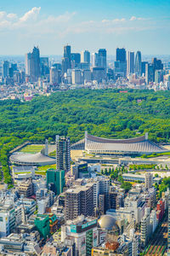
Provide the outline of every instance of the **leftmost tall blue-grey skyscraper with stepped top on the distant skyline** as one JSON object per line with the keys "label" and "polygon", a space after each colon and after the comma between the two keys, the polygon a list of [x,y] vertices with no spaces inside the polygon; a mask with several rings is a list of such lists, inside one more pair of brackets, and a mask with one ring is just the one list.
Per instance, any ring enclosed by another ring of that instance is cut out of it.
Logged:
{"label": "leftmost tall blue-grey skyscraper with stepped top on the distant skyline", "polygon": [[34,47],[31,53],[26,54],[26,75],[30,76],[31,82],[37,82],[40,77],[40,51]]}

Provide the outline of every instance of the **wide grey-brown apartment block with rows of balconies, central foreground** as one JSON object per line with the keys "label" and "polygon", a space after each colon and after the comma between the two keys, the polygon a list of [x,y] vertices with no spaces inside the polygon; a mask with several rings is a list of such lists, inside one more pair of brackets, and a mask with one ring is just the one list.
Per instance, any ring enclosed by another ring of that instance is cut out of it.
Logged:
{"label": "wide grey-brown apartment block with rows of balconies, central foreground", "polygon": [[94,183],[76,186],[65,191],[65,218],[74,219],[80,215],[94,214]]}

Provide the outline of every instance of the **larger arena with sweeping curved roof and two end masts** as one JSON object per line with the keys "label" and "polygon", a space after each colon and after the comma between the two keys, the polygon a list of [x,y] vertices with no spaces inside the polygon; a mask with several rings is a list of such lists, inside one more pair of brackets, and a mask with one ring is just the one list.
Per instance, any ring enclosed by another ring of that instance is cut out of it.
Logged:
{"label": "larger arena with sweeping curved roof and two end masts", "polygon": [[71,146],[71,149],[82,149],[88,154],[102,155],[142,155],[165,153],[166,148],[150,142],[148,133],[142,137],[129,139],[108,139],[95,137],[85,132],[85,138]]}

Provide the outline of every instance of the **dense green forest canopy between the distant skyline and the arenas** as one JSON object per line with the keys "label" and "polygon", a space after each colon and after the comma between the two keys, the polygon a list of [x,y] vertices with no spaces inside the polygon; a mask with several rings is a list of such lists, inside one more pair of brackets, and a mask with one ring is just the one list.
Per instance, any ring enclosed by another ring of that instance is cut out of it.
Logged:
{"label": "dense green forest canopy between the distant skyline and the arenas", "polygon": [[[84,131],[112,138],[137,137],[170,142],[170,91],[68,90],[37,96],[31,102],[0,102],[0,161],[8,151],[30,140],[42,143],[56,134],[77,142]],[[7,171],[5,171],[7,172]]]}

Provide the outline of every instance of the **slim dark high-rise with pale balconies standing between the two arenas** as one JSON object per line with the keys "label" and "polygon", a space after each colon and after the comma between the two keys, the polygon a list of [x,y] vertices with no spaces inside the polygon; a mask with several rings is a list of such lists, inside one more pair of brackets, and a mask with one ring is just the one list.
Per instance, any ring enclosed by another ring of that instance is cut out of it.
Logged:
{"label": "slim dark high-rise with pale balconies standing between the two arenas", "polygon": [[70,137],[56,136],[56,169],[71,171],[71,142]]}

